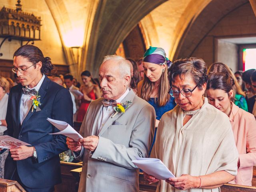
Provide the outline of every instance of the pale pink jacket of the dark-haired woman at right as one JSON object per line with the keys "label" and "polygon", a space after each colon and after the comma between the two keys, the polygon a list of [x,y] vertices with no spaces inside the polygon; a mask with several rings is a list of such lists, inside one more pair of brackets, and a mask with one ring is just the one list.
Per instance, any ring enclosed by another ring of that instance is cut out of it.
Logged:
{"label": "pale pink jacket of the dark-haired woman at right", "polygon": [[253,166],[256,165],[256,120],[234,103],[229,119],[240,160],[237,176],[230,183],[252,186]]}

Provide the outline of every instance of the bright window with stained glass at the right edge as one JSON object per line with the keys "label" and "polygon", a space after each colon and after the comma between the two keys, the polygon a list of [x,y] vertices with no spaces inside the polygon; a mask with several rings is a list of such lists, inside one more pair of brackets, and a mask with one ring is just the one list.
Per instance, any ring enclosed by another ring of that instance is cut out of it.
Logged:
{"label": "bright window with stained glass at the right edge", "polygon": [[243,49],[243,70],[256,68],[256,48]]}

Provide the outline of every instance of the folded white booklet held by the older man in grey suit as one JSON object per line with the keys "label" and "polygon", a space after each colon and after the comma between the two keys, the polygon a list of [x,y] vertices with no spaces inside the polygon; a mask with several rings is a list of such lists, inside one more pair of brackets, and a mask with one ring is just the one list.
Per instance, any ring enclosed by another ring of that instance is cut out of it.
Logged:
{"label": "folded white booklet held by the older man in grey suit", "polygon": [[79,139],[83,138],[76,130],[74,130],[74,128],[72,128],[70,126],[70,124],[68,124],[64,121],[54,120],[54,119],[51,119],[51,118],[47,118],[47,120],[52,125],[54,125],[54,127],[56,127],[58,130],[60,130],[60,132],[49,133],[49,134],[51,134],[51,135],[62,134],[62,135],[65,135],[67,137],[70,137],[70,138],[74,139],[75,141],[78,141]]}

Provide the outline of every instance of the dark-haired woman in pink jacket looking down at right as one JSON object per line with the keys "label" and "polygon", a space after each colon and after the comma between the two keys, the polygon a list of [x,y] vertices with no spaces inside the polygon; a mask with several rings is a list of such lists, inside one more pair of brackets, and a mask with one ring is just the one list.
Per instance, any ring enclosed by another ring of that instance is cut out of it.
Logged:
{"label": "dark-haired woman in pink jacket looking down at right", "polygon": [[256,165],[256,121],[254,116],[234,104],[234,79],[226,73],[213,73],[207,83],[209,103],[224,112],[231,123],[239,153],[238,174],[231,184],[252,186]]}

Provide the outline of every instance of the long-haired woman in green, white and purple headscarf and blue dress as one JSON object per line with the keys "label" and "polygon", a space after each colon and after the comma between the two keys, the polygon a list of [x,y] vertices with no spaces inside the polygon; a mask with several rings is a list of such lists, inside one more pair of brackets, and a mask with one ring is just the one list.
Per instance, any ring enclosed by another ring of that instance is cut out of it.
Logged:
{"label": "long-haired woman in green, white and purple headscarf and blue dress", "polygon": [[164,49],[151,46],[142,59],[144,79],[138,83],[138,96],[151,104],[156,111],[156,129],[152,146],[160,118],[165,112],[176,106],[174,98],[168,93],[170,84],[167,69],[171,63],[166,57]]}

